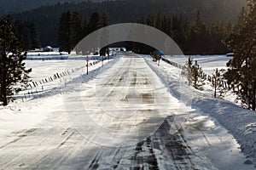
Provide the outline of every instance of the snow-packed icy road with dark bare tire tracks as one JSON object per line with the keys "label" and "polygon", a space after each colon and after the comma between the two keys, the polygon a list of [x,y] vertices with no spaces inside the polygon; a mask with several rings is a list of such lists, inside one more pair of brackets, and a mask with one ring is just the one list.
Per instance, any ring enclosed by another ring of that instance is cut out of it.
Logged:
{"label": "snow-packed icy road with dark bare tire tracks", "polygon": [[143,57],[126,55],[88,82],[74,82],[83,80],[19,109],[49,116],[1,136],[0,169],[252,168],[208,116],[192,111],[173,133],[180,105]]}

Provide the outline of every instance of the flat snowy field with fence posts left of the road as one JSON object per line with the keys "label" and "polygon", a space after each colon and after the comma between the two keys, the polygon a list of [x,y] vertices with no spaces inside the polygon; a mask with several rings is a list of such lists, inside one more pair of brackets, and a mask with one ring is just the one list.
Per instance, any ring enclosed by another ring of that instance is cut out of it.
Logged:
{"label": "flat snowy field with fence posts left of the road", "polygon": [[[110,56],[109,59],[113,59],[116,55]],[[90,55],[88,56],[89,69],[93,71],[96,68],[102,66],[99,61],[100,56]],[[87,64],[87,56],[77,55],[60,55],[58,52],[44,52],[38,54],[30,53],[26,59],[26,67],[32,68],[30,73],[31,82],[30,86],[26,90],[15,95],[17,101],[32,99],[42,94],[56,94],[53,88],[61,87],[61,85],[67,82],[67,77],[78,77],[80,74],[84,74]],[[103,63],[108,63],[108,59]],[[59,92],[58,92],[59,93]]]}

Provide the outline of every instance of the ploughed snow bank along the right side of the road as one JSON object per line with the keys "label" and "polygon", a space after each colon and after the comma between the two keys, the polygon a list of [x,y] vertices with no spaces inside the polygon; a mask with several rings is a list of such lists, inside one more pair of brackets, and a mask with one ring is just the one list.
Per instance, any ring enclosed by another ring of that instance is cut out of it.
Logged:
{"label": "ploughed snow bank along the right side of the road", "polygon": [[[187,101],[187,105],[191,105],[192,109],[201,111],[202,114],[212,116],[215,118],[217,124],[225,127],[229,133],[231,133],[237,142],[241,144],[241,150],[249,157],[253,158],[253,163],[256,166],[256,112],[248,111],[235,105],[234,103],[224,99],[214,99],[212,93],[201,92],[195,90],[195,88],[188,87],[186,85],[180,85],[180,70],[172,65],[168,65],[165,62],[161,62],[160,66],[151,62],[151,59],[145,57],[148,65],[155,71],[155,73],[161,77],[162,81],[168,80],[168,86],[171,90],[171,94],[177,99],[180,96],[184,98],[191,98],[191,101]],[[209,59],[209,61],[208,61]],[[207,68],[210,67],[207,62],[218,63],[219,67],[224,67],[225,62],[230,58],[224,58],[224,56],[210,56],[199,57],[199,65],[205,63]],[[172,58],[172,61],[176,61],[178,64],[184,64],[185,57],[178,56]]]}

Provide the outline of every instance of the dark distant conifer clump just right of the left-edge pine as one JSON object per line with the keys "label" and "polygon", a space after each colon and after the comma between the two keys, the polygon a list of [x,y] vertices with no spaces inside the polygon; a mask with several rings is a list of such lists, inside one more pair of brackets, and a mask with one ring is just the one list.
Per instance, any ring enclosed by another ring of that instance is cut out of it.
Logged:
{"label": "dark distant conifer clump just right of the left-edge pine", "polygon": [[26,50],[40,48],[38,28],[32,21],[16,20],[15,27]]}

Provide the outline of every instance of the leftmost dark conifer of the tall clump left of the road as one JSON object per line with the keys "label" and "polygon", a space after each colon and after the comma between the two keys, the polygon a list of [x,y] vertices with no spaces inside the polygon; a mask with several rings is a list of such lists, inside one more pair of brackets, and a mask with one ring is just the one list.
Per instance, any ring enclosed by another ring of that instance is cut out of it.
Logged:
{"label": "leftmost dark conifer of the tall clump left of the road", "polygon": [[69,11],[61,14],[61,19],[58,28],[58,43],[60,46],[60,52],[65,51],[68,54],[71,53],[71,14]]}

